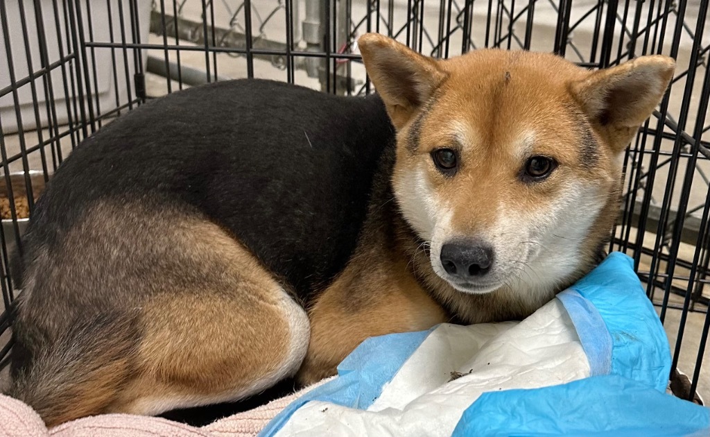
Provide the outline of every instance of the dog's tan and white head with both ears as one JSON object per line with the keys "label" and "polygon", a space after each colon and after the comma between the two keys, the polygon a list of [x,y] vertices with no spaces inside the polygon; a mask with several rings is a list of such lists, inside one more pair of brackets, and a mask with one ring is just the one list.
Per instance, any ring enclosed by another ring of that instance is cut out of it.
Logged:
{"label": "dog's tan and white head with both ears", "polygon": [[395,197],[438,276],[466,293],[550,293],[591,268],[672,59],[591,72],[523,51],[435,60],[377,34],[359,47],[398,131]]}

